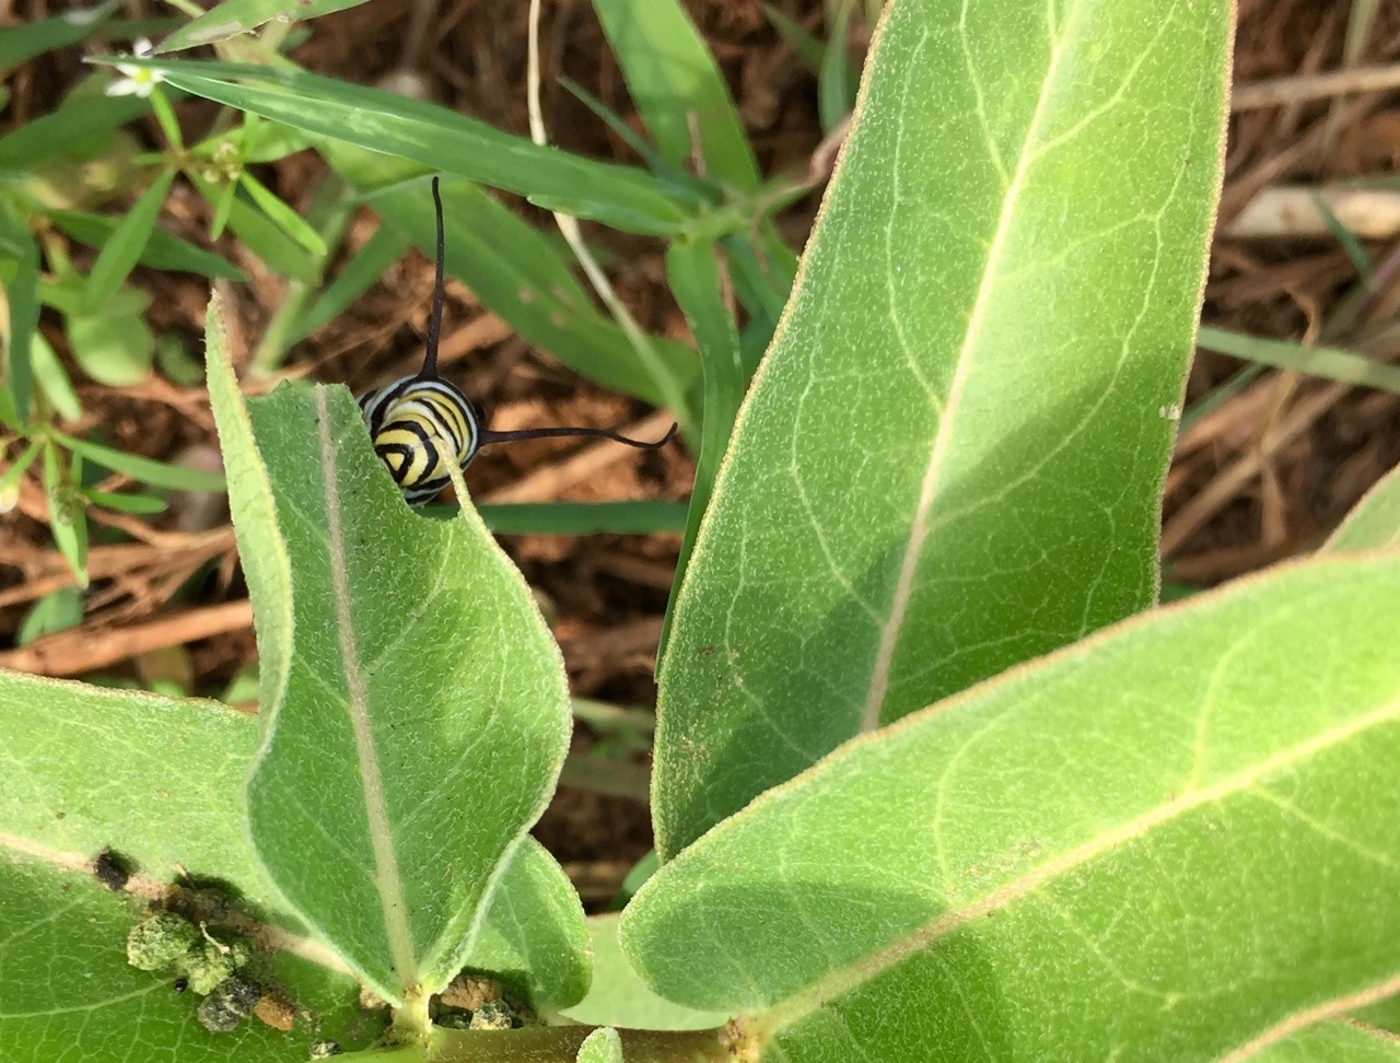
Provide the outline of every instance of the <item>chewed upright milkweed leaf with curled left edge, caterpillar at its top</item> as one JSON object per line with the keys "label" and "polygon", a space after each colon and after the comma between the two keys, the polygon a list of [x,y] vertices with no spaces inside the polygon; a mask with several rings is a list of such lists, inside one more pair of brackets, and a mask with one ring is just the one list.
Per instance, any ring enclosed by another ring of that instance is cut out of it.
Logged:
{"label": "chewed upright milkweed leaf with curled left edge, caterpillar at its top", "polygon": [[475,511],[405,506],[349,392],[283,385],[245,412],[209,321],[239,553],[263,556],[258,859],[381,996],[435,992],[563,762],[559,648]]}

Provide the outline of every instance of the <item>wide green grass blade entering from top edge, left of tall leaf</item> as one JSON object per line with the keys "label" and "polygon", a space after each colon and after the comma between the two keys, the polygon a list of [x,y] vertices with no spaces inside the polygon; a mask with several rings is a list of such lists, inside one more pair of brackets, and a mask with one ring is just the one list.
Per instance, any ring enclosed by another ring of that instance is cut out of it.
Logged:
{"label": "wide green grass blade entering from top edge, left of tall leaf", "polygon": [[729,88],[678,0],[594,0],[594,10],[658,154],[689,169],[699,153],[706,176],[757,188],[759,167]]}

